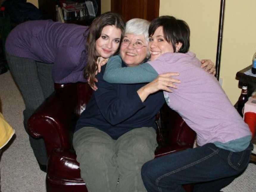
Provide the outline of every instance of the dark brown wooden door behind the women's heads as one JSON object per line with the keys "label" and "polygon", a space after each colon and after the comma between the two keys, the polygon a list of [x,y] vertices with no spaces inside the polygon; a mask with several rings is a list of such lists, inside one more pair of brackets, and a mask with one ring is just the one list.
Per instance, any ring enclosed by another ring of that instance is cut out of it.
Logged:
{"label": "dark brown wooden door behind the women's heads", "polygon": [[122,15],[125,22],[132,18],[152,21],[159,16],[159,0],[111,0],[111,11]]}

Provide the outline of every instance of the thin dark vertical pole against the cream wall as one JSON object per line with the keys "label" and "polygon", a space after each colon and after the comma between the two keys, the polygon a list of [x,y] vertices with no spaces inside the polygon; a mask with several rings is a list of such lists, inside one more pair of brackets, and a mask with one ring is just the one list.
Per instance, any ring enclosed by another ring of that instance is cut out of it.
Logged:
{"label": "thin dark vertical pole against the cream wall", "polygon": [[215,75],[215,77],[217,78],[217,80],[219,80],[220,67],[221,67],[221,46],[222,46],[224,10],[225,10],[225,0],[221,0],[219,31],[218,31],[218,46],[217,46],[217,53],[216,53],[216,75]]}

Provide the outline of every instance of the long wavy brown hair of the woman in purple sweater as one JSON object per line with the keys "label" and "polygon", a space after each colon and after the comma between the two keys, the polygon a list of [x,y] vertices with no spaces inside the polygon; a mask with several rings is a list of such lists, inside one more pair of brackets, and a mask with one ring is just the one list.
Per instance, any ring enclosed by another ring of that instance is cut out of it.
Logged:
{"label": "long wavy brown hair of the woman in purple sweater", "polygon": [[[97,18],[93,20],[93,23],[90,25],[90,32],[87,38],[87,45],[86,48],[88,50],[87,55],[87,65],[84,70],[84,77],[90,78],[90,84],[94,84],[94,78],[95,78],[95,72],[98,70],[98,66],[96,65],[97,56],[96,56],[96,50],[95,50],[95,44],[96,40],[100,37],[102,29],[107,25],[113,25],[118,29],[121,29],[122,35],[121,39],[124,35],[124,21],[121,15],[117,13],[103,13],[102,15],[99,15]],[[121,43],[120,43],[121,44]],[[120,45],[119,45],[120,46]],[[115,54],[118,52],[117,50]]]}

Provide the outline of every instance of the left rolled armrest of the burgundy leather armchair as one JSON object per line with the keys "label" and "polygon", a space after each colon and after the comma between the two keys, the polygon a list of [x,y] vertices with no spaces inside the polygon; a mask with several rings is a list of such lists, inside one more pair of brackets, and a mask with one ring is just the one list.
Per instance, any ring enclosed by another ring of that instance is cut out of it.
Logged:
{"label": "left rolled armrest of the burgundy leather armchair", "polygon": [[54,148],[72,148],[77,103],[77,85],[59,85],[29,118],[28,132],[32,137],[43,137],[48,156]]}

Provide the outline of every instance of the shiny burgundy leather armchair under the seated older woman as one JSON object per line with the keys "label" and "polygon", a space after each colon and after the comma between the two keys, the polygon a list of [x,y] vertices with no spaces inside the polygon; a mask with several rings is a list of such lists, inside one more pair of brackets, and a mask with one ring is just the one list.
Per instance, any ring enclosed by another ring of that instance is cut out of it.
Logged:
{"label": "shiny burgundy leather armchair under the seated older woman", "polygon": [[[86,108],[92,89],[87,83],[55,84],[54,93],[29,119],[29,134],[43,137],[48,154],[47,192],[87,192],[72,146],[75,123]],[[155,157],[192,148],[195,132],[167,105],[156,115]],[[192,185],[184,185],[186,191]]]}

